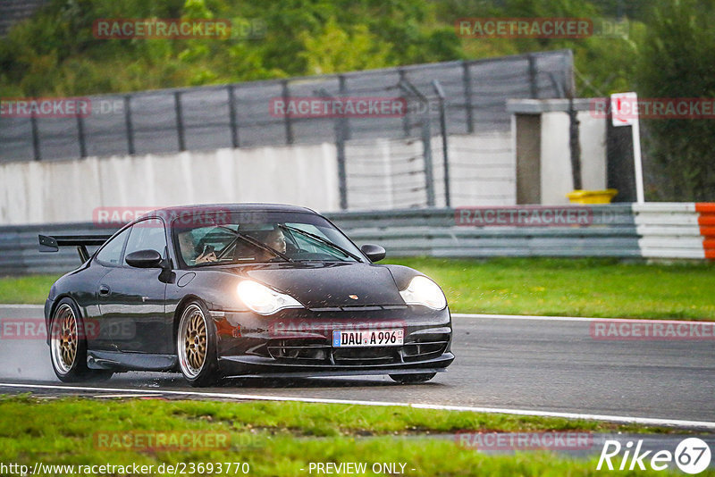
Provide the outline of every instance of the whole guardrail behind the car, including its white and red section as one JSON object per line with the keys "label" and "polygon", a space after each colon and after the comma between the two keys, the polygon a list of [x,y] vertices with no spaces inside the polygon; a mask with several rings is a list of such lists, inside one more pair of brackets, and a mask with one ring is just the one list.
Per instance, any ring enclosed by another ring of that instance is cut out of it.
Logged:
{"label": "whole guardrail behind the car, including its white and red section", "polygon": [[[326,215],[358,245],[380,244],[388,256],[715,259],[715,204],[579,205],[574,208],[587,211],[587,223],[554,223],[558,211],[568,208],[525,205]],[[500,210],[503,217],[511,213],[512,219],[518,218],[523,211],[544,220],[536,225],[497,223]],[[110,231],[88,222],[0,227],[0,275],[66,272],[77,266],[79,257],[71,248],[40,254],[38,233]]]}

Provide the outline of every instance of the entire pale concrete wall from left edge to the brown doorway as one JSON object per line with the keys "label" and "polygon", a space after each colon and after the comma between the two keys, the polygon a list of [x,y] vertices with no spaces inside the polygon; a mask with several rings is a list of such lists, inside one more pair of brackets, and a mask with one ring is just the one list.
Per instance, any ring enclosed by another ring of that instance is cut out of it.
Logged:
{"label": "entire pale concrete wall from left edge to the brown doorway", "polygon": [[[452,205],[512,205],[509,133],[450,136]],[[444,205],[442,138],[432,142],[435,197]],[[350,210],[425,205],[420,140],[350,141]],[[275,202],[340,209],[332,144],[217,149],[166,155],[0,163],[0,225],[91,222],[97,207]]]}

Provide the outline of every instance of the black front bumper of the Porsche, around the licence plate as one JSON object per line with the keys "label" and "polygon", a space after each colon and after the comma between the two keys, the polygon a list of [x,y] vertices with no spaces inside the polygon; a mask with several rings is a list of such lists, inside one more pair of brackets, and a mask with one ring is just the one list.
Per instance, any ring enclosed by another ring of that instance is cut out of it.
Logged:
{"label": "black front bumper of the Porsche, around the licence plate", "polygon": [[[450,352],[448,308],[422,306],[283,310],[270,317],[212,314],[224,376],[340,376],[442,372]],[[404,344],[332,347],[332,331],[404,330]]]}

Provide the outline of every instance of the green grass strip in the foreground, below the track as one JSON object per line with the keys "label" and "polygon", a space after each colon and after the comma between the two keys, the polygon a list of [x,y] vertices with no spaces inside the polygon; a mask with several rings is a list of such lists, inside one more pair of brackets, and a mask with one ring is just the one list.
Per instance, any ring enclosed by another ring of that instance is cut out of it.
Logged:
{"label": "green grass strip in the foreground, below the track", "polygon": [[[307,475],[311,462],[406,464],[406,475],[595,475],[594,458],[548,452],[488,456],[426,432],[666,431],[557,418],[400,407],[160,399],[0,398],[0,461],[44,464],[248,462],[250,475]],[[102,448],[100,435],[130,432],[230,434],[228,447]],[[416,437],[416,432],[420,436]],[[302,470],[301,470],[302,469]],[[414,471],[412,469],[415,469]],[[231,475],[232,473],[231,469]],[[156,472],[156,471],[155,471]],[[168,474],[168,473],[167,473]],[[195,472],[193,474],[214,475]],[[240,474],[240,473],[239,473]],[[619,473],[635,475],[635,473]],[[643,474],[638,472],[639,475]],[[701,475],[712,475],[702,473]]]}

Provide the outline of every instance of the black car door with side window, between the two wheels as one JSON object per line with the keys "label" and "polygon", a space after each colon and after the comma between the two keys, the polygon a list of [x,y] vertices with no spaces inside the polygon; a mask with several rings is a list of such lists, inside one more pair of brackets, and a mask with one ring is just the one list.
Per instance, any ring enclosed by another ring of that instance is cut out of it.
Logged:
{"label": "black car door with side window, between the two wheels", "polygon": [[135,268],[126,256],[138,250],[167,253],[164,222],[147,219],[129,232],[121,265],[108,272],[100,283],[100,310],[110,326],[114,346],[123,352],[171,353],[171,318],[165,313],[166,283],[160,268]]}

